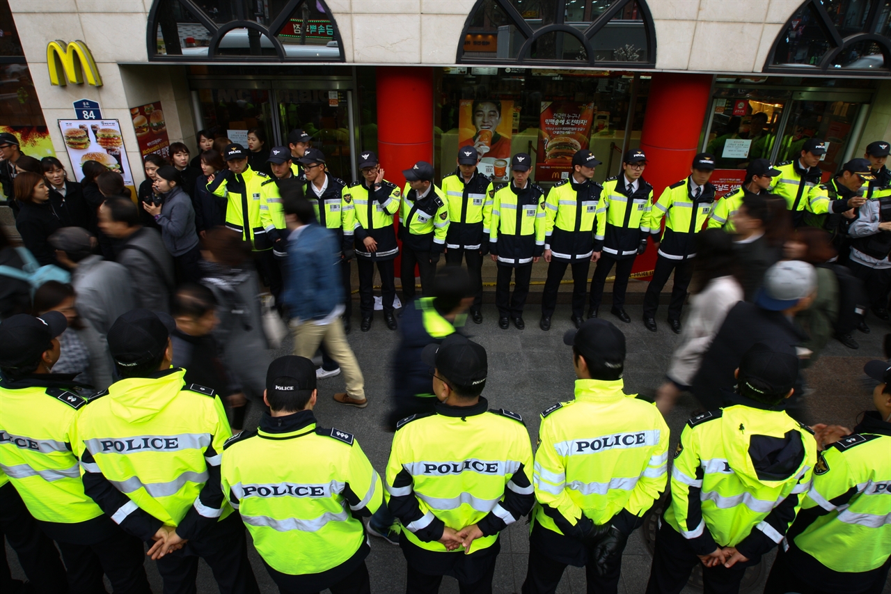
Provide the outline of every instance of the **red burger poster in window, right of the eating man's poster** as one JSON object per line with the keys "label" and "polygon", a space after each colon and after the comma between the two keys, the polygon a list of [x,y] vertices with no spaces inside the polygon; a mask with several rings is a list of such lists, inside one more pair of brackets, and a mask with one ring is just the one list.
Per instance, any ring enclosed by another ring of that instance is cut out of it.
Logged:
{"label": "red burger poster in window, right of the eating man's poster", "polygon": [[569,177],[572,156],[588,148],[593,103],[542,102],[535,181],[559,181]]}

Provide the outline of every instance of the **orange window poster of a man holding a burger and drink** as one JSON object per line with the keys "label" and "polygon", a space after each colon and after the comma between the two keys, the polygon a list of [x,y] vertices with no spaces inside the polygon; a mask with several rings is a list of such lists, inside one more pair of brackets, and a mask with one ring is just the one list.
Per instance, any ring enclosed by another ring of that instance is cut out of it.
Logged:
{"label": "orange window poster of a man holding a burger and drink", "polygon": [[462,99],[458,109],[458,146],[476,148],[479,170],[496,181],[506,180],[511,174],[513,102]]}

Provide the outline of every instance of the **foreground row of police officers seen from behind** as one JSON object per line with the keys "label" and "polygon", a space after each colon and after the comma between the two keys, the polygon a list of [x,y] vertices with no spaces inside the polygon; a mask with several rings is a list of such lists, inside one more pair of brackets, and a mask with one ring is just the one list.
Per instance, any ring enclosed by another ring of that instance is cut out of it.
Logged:
{"label": "foreground row of police officers seen from behind", "polygon": [[[269,412],[232,437],[217,394],[171,367],[172,318],[135,309],[114,323],[122,379],[98,393],[52,373],[66,326],[58,312],[0,324],[0,528],[40,592],[104,591],[103,573],[114,591],[148,592],[144,547],[165,592],[195,591],[199,557],[221,592],[256,592],[246,526],[280,591],[367,593],[361,518],[383,505],[402,527],[407,592],[436,592],[443,575],[491,592],[500,533],[523,516],[524,593],[553,592],[567,565],[585,567],[588,591],[615,592],[625,543],[666,488],[668,427],[625,394],[625,336],[606,320],[564,336],[575,399],[544,410],[535,455],[522,417],[481,395],[485,349],[457,334],[430,344],[437,403],[398,423],[382,478],[352,433],[317,422],[309,359],[270,365]],[[727,406],[692,418],[674,450],[648,592],[680,592],[699,563],[707,592],[736,592],[778,546],[768,592],[881,591],[891,367],[865,371],[876,409],[853,433],[814,437],[781,406],[795,353],[744,355]]]}

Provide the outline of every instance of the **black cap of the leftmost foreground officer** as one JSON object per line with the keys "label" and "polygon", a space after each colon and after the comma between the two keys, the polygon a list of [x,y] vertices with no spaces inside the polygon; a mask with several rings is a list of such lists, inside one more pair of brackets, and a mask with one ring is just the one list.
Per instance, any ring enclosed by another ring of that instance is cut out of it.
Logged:
{"label": "black cap of the leftmost foreground officer", "polygon": [[58,311],[47,311],[39,318],[17,314],[4,319],[0,324],[0,367],[15,370],[34,366],[45,351],[53,348],[53,338],[67,327],[68,319]]}

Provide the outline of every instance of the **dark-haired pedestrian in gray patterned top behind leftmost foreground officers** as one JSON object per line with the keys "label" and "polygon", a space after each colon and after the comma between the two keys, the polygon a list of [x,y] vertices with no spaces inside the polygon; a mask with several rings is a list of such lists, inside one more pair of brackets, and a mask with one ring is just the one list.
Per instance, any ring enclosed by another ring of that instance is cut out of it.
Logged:
{"label": "dark-haired pedestrian in gray patterned top behind leftmost foreground officers", "polygon": [[74,287],[58,281],[47,281],[34,293],[34,313],[43,316],[58,311],[68,320],[65,332],[59,334],[59,360],[53,373],[73,375],[74,381],[104,390],[113,381],[108,342],[90,320],[78,314],[78,298]]}

